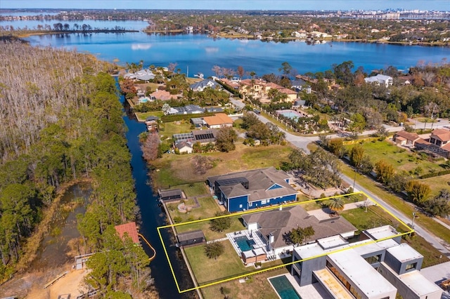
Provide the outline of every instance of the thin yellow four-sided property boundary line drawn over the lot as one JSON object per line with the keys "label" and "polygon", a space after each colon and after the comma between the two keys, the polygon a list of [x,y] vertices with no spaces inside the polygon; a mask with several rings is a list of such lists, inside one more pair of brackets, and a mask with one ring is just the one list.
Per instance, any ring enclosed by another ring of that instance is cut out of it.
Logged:
{"label": "thin yellow four-sided property boundary line drawn over the lot", "polygon": [[[287,263],[287,264],[282,264],[282,265],[278,265],[278,266],[274,266],[274,267],[269,267],[269,268],[266,268],[266,269],[257,270],[257,271],[250,272],[250,273],[240,274],[240,275],[236,275],[235,277],[231,277],[231,278],[227,278],[227,279],[221,279],[219,281],[214,281],[214,282],[212,282],[210,284],[204,284],[202,286],[195,286],[194,288],[187,288],[185,290],[181,290],[180,289],[179,283],[178,283],[178,281],[176,280],[176,277],[175,277],[174,268],[172,267],[172,263],[170,262],[169,255],[167,254],[166,245],[165,245],[164,241],[162,240],[162,235],[161,235],[161,230],[162,229],[166,229],[166,228],[169,228],[169,227],[177,227],[177,226],[181,226],[181,225],[191,225],[193,223],[204,222],[204,221],[209,221],[209,220],[218,219],[218,218],[235,217],[235,216],[238,216],[238,215],[245,215],[245,214],[250,214],[250,213],[261,213],[261,212],[264,212],[264,211],[270,211],[270,210],[278,209],[278,208],[280,208],[280,206],[285,208],[285,207],[290,207],[290,206],[297,206],[299,204],[308,204],[310,202],[324,201],[324,200],[333,199],[333,198],[336,198],[336,197],[349,197],[351,195],[357,195],[357,194],[363,194],[368,200],[372,201],[373,204],[375,204],[375,206],[379,206],[380,208],[382,208],[383,211],[385,211],[392,218],[397,220],[401,226],[404,226],[407,231],[403,232],[403,233],[396,234],[396,235],[391,236],[391,237],[385,237],[383,239],[367,241],[367,242],[364,242],[362,244],[356,244],[354,246],[349,246],[349,247],[346,247],[346,248],[340,248],[340,249],[337,249],[335,251],[329,251],[329,252],[326,252],[326,253],[321,253],[319,255],[314,255],[314,256],[309,257],[309,258],[304,258],[303,260],[296,260],[295,262],[290,262],[290,263]],[[260,274],[262,272],[276,270],[276,269],[279,269],[281,267],[286,267],[288,265],[293,265],[295,263],[300,263],[300,262],[302,262],[304,260],[312,260],[314,258],[319,258],[321,256],[329,255],[331,253],[337,253],[337,252],[340,252],[340,251],[346,251],[347,249],[350,249],[350,248],[356,248],[356,247],[364,246],[364,245],[367,245],[367,244],[374,244],[374,243],[377,243],[377,242],[380,242],[380,241],[385,241],[387,239],[394,239],[396,237],[401,237],[401,236],[404,236],[405,234],[411,234],[412,232],[414,232],[414,230],[411,227],[409,227],[408,225],[406,225],[405,222],[401,221],[399,218],[397,218],[397,216],[392,214],[390,211],[387,211],[387,209],[384,206],[380,205],[378,203],[378,201],[375,201],[375,199],[372,199],[371,197],[369,197],[365,192],[353,192],[353,193],[349,193],[349,194],[336,195],[336,196],[333,196],[333,197],[325,197],[325,198],[322,198],[322,199],[311,199],[309,201],[295,201],[295,202],[293,202],[291,204],[282,204],[282,205],[278,205],[278,206],[271,206],[271,207],[268,207],[268,208],[258,208],[257,210],[250,210],[250,211],[233,213],[233,214],[229,214],[229,215],[222,215],[222,216],[218,216],[218,217],[206,218],[206,219],[201,219],[201,220],[193,220],[193,221],[189,221],[189,222],[176,223],[174,225],[164,225],[164,226],[157,227],[157,230],[158,230],[158,235],[160,236],[160,240],[161,240],[161,243],[162,243],[162,248],[164,249],[164,253],[166,255],[167,261],[169,262],[170,271],[172,272],[172,276],[174,277],[176,288],[177,288],[179,293],[186,293],[186,292],[189,292],[189,291],[195,291],[198,288],[205,288],[207,286],[214,286],[215,284],[222,284],[222,283],[224,283],[226,281],[231,281],[231,280],[234,280],[234,279],[240,279],[240,278],[243,278],[243,277],[248,277],[248,276],[251,276],[251,275]],[[154,256],[152,258],[154,258]]]}

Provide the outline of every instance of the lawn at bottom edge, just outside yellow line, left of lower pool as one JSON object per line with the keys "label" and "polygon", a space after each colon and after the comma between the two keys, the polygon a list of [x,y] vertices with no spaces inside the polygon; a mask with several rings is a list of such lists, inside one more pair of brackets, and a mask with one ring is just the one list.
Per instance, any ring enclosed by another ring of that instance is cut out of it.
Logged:
{"label": "lawn at bottom edge, just outside yellow line, left of lower pool", "polygon": [[281,274],[288,274],[288,270],[286,268],[271,270],[253,275],[243,284],[238,279],[235,279],[201,288],[200,291],[205,299],[224,298],[224,295],[229,295],[229,298],[236,299],[279,299],[267,279]]}

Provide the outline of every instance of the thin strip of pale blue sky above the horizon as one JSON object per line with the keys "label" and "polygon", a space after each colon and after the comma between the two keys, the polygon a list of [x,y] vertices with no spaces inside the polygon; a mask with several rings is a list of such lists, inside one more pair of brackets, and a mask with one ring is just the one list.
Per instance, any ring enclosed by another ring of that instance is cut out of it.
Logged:
{"label": "thin strip of pale blue sky above the horizon", "polygon": [[450,11],[450,0],[0,0],[1,8]]}

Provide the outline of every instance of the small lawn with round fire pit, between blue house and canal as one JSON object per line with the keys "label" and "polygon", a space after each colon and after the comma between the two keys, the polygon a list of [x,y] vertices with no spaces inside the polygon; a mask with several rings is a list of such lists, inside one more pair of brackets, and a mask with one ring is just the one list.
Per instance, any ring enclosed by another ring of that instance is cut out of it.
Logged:
{"label": "small lawn with round fire pit, between blue house and canal", "polygon": [[[167,211],[169,211],[170,217],[174,220],[175,217],[181,218],[181,222],[188,222],[193,220],[200,220],[214,217],[214,214],[220,212],[220,208],[216,201],[212,197],[200,197],[197,199],[200,206],[198,208],[192,208],[188,213],[181,213],[178,210],[180,202],[174,202],[167,204]],[[193,199],[185,201],[186,206],[194,206]]]}

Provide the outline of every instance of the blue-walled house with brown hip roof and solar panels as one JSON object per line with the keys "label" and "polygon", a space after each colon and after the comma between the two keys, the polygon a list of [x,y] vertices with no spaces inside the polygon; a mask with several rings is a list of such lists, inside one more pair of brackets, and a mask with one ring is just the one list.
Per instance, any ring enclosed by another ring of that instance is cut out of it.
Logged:
{"label": "blue-walled house with brown hip roof and solar panels", "polygon": [[295,201],[297,191],[289,175],[274,167],[228,173],[207,178],[207,184],[227,211],[246,211]]}

